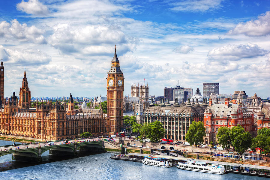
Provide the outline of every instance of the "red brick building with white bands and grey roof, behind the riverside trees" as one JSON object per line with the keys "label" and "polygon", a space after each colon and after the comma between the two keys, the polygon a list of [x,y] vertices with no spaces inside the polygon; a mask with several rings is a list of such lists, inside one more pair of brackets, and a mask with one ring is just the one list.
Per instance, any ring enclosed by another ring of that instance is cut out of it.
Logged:
{"label": "red brick building with white bands and grey roof, behind the riverside trees", "polygon": [[242,107],[241,101],[237,104],[229,104],[230,98],[225,98],[225,104],[212,104],[209,99],[209,107],[204,112],[204,127],[206,131],[205,144],[217,142],[216,135],[222,126],[232,128],[241,125],[245,131],[252,131],[254,124],[253,113]]}

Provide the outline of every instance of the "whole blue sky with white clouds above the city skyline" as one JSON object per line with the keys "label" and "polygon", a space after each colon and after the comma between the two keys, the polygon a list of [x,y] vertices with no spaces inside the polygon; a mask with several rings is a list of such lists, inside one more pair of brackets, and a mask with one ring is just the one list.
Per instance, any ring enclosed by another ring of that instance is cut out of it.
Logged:
{"label": "whole blue sky with white clouds above the city skyline", "polygon": [[31,96],[106,95],[114,45],[131,83],[270,96],[270,1],[0,1],[4,96],[24,67]]}

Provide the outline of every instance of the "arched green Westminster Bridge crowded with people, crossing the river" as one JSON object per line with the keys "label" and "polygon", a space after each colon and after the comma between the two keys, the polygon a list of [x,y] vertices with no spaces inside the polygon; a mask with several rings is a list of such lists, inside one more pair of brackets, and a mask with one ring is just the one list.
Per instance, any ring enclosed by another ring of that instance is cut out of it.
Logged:
{"label": "arched green Westminster Bridge crowded with people, crossing the river", "polygon": [[49,142],[41,142],[0,146],[0,156],[12,154],[12,160],[41,163],[41,155],[48,150],[51,155],[70,157],[76,157],[78,151],[105,152],[104,141],[101,138],[50,142],[53,142],[54,145],[49,145]]}

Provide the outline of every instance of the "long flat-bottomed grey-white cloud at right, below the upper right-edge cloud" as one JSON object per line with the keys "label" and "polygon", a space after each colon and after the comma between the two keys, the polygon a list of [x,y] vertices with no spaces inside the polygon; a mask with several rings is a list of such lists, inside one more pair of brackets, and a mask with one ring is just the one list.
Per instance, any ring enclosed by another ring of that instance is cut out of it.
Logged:
{"label": "long flat-bottomed grey-white cloud at right, below the upper right-edge cloud", "polygon": [[208,58],[211,61],[231,60],[237,61],[241,58],[252,58],[267,55],[269,51],[259,47],[257,44],[226,45],[214,48],[208,52]]}

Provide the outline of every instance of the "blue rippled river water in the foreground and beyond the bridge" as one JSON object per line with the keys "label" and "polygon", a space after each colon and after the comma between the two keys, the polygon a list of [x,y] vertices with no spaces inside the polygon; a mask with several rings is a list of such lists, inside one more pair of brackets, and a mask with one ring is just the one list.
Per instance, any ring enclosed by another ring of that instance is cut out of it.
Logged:
{"label": "blue rippled river water in the foreground and beyond the bridge", "polygon": [[[0,140],[1,145],[13,142]],[[142,163],[111,160],[111,153],[102,153],[72,159],[55,161],[48,152],[43,155],[43,164],[32,165],[12,161],[12,155],[0,157],[1,179],[184,179],[184,180],[263,180],[256,176],[227,173],[224,175],[179,170],[176,167],[163,168]]]}

